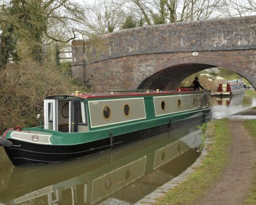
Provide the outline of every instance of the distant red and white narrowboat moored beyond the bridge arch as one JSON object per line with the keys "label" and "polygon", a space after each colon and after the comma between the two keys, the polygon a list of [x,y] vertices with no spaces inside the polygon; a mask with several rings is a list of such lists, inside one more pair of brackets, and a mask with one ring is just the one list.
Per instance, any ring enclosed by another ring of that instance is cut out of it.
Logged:
{"label": "distant red and white narrowboat moored beyond the bridge arch", "polygon": [[215,95],[237,95],[245,93],[244,82],[242,80],[230,80],[219,84]]}

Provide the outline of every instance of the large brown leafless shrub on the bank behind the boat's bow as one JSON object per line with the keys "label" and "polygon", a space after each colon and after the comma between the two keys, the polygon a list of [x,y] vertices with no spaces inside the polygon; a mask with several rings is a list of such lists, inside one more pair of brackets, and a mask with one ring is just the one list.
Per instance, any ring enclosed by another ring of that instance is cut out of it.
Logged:
{"label": "large brown leafless shrub on the bank behind the boat's bow", "polygon": [[[71,92],[72,79],[52,63],[23,60],[0,71],[0,132],[21,125],[38,125],[46,95]],[[74,89],[75,90],[75,89]],[[72,91],[74,91],[72,90]]]}

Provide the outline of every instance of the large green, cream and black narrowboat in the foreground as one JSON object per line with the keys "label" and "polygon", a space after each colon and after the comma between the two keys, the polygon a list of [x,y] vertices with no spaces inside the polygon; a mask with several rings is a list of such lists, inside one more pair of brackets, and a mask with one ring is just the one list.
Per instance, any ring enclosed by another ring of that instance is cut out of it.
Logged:
{"label": "large green, cream and black narrowboat in the foreground", "polygon": [[209,91],[77,91],[46,97],[44,127],[8,129],[0,145],[15,166],[61,162],[211,118]]}

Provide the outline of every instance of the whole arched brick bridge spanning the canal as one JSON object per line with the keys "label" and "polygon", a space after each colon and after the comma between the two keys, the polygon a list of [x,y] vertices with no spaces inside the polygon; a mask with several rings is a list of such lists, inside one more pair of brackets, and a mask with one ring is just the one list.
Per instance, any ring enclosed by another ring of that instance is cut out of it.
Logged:
{"label": "whole arched brick bridge spanning the canal", "polygon": [[225,67],[256,88],[256,16],[144,26],[72,42],[72,74],[97,91],[175,88]]}

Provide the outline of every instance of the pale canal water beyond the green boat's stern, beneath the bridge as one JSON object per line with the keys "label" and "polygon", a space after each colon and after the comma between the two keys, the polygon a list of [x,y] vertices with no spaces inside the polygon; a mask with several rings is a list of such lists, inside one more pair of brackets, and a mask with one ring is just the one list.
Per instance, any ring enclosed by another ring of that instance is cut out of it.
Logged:
{"label": "pale canal water beyond the green boat's stern, beneath the bridge", "polygon": [[227,96],[212,97],[212,118],[220,119],[247,110],[256,106],[256,94],[254,89],[247,89],[245,93]]}

